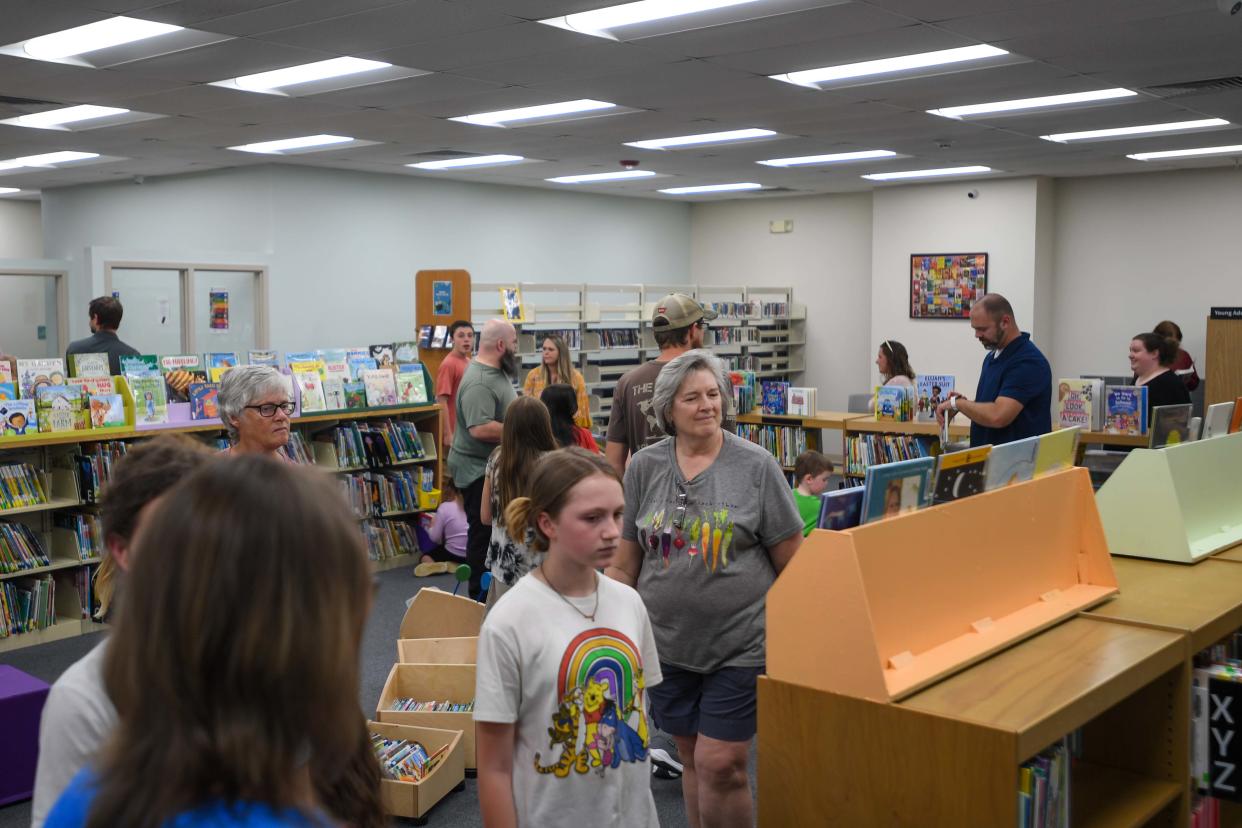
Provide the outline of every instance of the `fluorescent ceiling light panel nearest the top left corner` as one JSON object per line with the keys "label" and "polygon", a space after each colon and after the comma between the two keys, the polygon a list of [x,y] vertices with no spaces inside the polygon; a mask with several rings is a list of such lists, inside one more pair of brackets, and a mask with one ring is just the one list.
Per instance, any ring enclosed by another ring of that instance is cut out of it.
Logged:
{"label": "fluorescent ceiling light panel nearest the top left corner", "polygon": [[232,38],[153,20],[116,16],[9,43],[0,47],[0,55],[101,68],[225,40]]}

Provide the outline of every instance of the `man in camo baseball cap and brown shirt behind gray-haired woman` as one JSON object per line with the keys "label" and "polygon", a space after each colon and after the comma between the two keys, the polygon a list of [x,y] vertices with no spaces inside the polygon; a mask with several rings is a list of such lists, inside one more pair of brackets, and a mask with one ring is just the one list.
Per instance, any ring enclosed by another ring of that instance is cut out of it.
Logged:
{"label": "man in camo baseball cap and brown shirt behind gray-haired woman", "polygon": [[623,374],[612,394],[605,454],[625,475],[630,456],[664,437],[652,411],[651,396],[661,369],[676,356],[703,348],[703,335],[717,313],[684,293],[669,293],[651,310],[651,326],[660,356]]}

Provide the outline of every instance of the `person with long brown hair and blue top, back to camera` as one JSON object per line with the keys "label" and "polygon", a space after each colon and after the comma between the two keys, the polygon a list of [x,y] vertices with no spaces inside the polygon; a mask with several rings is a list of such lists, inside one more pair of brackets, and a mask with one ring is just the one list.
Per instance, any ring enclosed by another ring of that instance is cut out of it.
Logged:
{"label": "person with long brown hair and blue top, back to camera", "polygon": [[358,708],[370,590],[327,478],[261,456],[186,478],[135,540],[103,663],[118,727],[46,824],[383,824]]}

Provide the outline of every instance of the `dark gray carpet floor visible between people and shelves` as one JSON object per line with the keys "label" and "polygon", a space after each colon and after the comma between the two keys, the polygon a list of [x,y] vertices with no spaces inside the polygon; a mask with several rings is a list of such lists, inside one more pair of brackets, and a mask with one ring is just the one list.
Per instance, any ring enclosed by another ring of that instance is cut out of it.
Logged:
{"label": "dark gray carpet floor visible between people and shelves", "polygon": [[[375,715],[375,703],[380,698],[380,690],[384,689],[384,682],[396,659],[396,636],[401,626],[401,617],[405,614],[406,600],[421,586],[438,586],[447,591],[453,588],[453,580],[448,575],[414,578],[410,569],[380,572],[378,580],[379,591],[375,595],[375,606],[371,608],[371,617],[363,636],[361,686],[359,689],[359,703],[370,718]],[[0,655],[0,664],[11,664],[50,684],[70,664],[94,647],[101,634],[82,636],[4,653]],[[754,755],[751,752],[753,772]],[[753,785],[754,780],[751,778]],[[664,828],[686,826],[679,782],[652,780],[652,793],[660,812],[661,826]],[[465,791],[450,793],[432,808],[427,817],[428,824],[435,828],[481,827],[483,821],[478,812],[478,791],[474,780],[466,780]],[[402,822],[397,821],[397,824]],[[29,828],[29,826],[30,802],[0,807],[0,828]]]}

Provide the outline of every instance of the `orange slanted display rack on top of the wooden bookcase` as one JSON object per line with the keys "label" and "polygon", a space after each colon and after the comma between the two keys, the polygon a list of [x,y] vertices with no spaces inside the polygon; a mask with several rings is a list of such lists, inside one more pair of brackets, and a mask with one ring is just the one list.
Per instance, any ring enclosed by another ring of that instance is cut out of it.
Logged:
{"label": "orange slanted display rack on top of the wooden bookcase", "polygon": [[768,675],[893,701],[1114,592],[1090,478],[1066,469],[812,531],[768,593]]}

